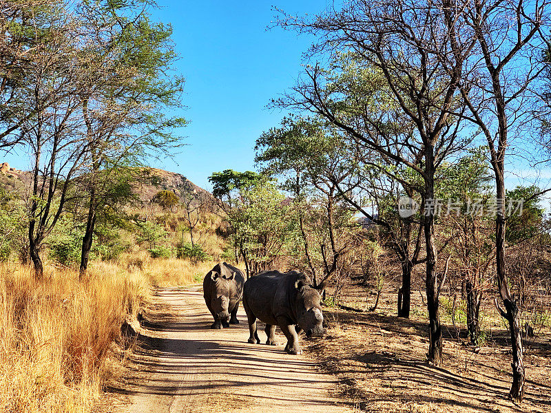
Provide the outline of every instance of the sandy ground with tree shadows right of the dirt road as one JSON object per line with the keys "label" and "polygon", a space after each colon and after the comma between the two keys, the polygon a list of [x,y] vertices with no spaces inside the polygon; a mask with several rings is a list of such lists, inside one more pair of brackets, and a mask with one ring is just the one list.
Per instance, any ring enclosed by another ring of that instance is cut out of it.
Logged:
{"label": "sandy ground with tree shadows right of the dirt road", "polygon": [[[503,328],[492,330],[484,345],[475,349],[468,345],[464,329],[458,338],[453,327],[444,324],[443,366],[429,366],[425,362],[428,321],[421,315],[419,293],[413,296],[411,319],[396,317],[395,300],[395,291],[387,288],[376,312],[326,308],[331,328],[322,341],[308,348],[326,371],[344,383],[341,396],[356,400],[362,412],[551,412],[548,330],[525,348],[526,396],[521,405],[514,405],[507,399],[512,356]],[[375,296],[351,283],[342,301],[368,308]]]}

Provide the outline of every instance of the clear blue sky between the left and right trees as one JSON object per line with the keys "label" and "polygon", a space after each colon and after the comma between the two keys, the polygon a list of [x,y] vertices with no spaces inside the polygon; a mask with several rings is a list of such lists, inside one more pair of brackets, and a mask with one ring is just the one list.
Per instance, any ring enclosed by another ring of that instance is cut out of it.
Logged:
{"label": "clear blue sky between the left and right trees", "polygon": [[295,83],[311,40],[280,28],[267,30],[275,11],[318,12],[325,1],[160,0],[154,16],[174,28],[178,70],[186,78],[183,103],[188,146],[163,169],[210,188],[214,171],[253,169],[253,146],[285,113],[267,109]]}

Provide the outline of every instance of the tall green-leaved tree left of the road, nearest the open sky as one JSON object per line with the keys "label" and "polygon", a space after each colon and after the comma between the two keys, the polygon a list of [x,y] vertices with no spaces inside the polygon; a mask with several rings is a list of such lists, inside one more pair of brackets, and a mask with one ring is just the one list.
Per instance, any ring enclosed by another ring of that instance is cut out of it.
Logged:
{"label": "tall green-leaved tree left of the road, nearest the open sky", "polygon": [[[82,81],[82,114],[89,143],[85,190],[88,214],[81,252],[81,275],[92,248],[98,211],[109,198],[117,170],[141,165],[152,153],[178,146],[183,78],[172,73],[176,59],[171,27],[150,20],[149,1],[83,1],[87,76]],[[136,169],[140,171],[141,169]]]}

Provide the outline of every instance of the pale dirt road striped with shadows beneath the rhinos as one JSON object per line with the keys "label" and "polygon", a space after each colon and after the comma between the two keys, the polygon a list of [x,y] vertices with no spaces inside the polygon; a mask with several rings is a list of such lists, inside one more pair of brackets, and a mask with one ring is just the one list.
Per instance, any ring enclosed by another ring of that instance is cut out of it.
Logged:
{"label": "pale dirt road striped with shadows beneath the rhinos", "polygon": [[275,347],[247,343],[242,308],[238,318],[211,330],[200,287],[159,290],[132,361],[129,413],[353,411],[337,404],[335,378],[312,359],[285,354],[282,335]]}

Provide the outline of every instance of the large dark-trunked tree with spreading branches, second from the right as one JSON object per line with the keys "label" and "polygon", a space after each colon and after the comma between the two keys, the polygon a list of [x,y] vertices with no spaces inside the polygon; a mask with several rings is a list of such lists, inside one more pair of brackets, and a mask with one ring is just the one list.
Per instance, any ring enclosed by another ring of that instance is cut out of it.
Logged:
{"label": "large dark-trunked tree with spreading branches, second from the right", "polygon": [[[320,43],[313,52],[349,51],[355,54],[353,69],[376,70],[388,95],[366,105],[357,94],[357,70],[333,65],[331,71],[314,65],[306,80],[279,100],[282,107],[307,110],[326,118],[342,134],[362,142],[380,156],[417,173],[422,180],[419,196],[428,208],[422,217],[426,249],[426,293],[429,317],[430,363],[441,363],[442,332],[439,319],[439,282],[435,242],[435,173],[441,162],[460,149],[456,139],[464,103],[459,100],[459,81],[472,45],[452,54],[446,35],[446,3],[432,1],[364,1],[347,3],[340,12],[328,11],[315,19],[280,19],[284,28],[316,34]],[[430,28],[431,30],[428,30]],[[450,54],[450,67],[441,54]],[[391,104],[388,104],[390,100]],[[377,106],[378,105],[378,106]],[[387,130],[392,117],[405,131]],[[397,133],[398,132],[398,133]],[[399,176],[395,176],[399,180]]]}

